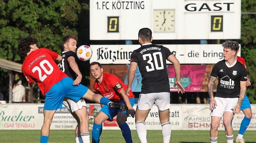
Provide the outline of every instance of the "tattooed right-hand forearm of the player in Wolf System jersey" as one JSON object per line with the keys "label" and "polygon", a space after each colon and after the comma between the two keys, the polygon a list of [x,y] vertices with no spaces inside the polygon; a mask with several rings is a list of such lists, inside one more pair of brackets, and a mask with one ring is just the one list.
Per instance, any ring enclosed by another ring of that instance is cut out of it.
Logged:
{"label": "tattooed right-hand forearm of the player in Wolf System jersey", "polygon": [[236,107],[233,110],[233,113],[240,113],[240,107],[242,105],[242,102],[244,100],[245,92],[246,92],[246,83],[247,82],[242,82],[240,81],[240,93],[239,93],[239,98]]}

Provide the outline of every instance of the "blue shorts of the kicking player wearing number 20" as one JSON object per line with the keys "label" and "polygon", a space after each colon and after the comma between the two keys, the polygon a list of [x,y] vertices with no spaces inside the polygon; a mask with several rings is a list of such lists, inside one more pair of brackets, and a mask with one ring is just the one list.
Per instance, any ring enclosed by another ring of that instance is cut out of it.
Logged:
{"label": "blue shorts of the kicking player wearing number 20", "polygon": [[65,77],[45,93],[44,110],[57,110],[62,108],[64,97],[78,101],[87,92],[88,88],[82,84],[73,85],[70,77]]}

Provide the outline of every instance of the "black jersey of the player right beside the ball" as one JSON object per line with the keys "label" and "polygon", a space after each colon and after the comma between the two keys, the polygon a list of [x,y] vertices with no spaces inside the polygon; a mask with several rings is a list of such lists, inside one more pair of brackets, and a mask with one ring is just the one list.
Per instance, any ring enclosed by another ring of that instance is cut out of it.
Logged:
{"label": "black jersey of the player right beside the ball", "polygon": [[68,63],[68,57],[74,57],[76,60],[76,53],[74,53],[73,51],[68,51],[68,52],[62,52],[61,54],[62,56],[62,60],[61,62],[58,64],[60,70],[62,72],[64,72],[65,74],[67,74],[70,78],[72,78],[73,80],[76,79],[76,73],[72,70],[72,68],[70,67],[69,63]]}

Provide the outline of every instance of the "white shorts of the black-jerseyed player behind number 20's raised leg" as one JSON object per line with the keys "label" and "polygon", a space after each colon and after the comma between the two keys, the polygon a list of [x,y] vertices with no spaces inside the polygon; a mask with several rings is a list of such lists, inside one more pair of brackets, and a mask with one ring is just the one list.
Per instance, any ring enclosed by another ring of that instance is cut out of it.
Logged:
{"label": "white shorts of the black-jerseyed player behind number 20's raised leg", "polygon": [[86,106],[84,98],[80,98],[77,102],[75,100],[72,100],[71,98],[65,97],[63,100],[63,105],[68,108],[70,113],[82,109],[83,106]]}

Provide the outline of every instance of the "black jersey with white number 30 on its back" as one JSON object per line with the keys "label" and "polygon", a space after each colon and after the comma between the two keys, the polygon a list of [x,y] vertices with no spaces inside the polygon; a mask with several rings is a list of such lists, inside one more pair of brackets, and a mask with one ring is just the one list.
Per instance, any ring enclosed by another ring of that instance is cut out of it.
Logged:
{"label": "black jersey with white number 30 on its back", "polygon": [[168,48],[151,43],[132,52],[131,62],[138,64],[142,76],[141,93],[170,92],[166,59],[171,54]]}

